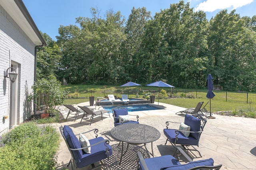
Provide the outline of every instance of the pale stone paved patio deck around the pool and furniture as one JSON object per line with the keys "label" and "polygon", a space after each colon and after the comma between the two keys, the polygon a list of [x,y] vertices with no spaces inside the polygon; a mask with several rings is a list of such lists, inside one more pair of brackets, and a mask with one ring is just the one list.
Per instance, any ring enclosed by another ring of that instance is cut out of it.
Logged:
{"label": "pale stone paved patio deck around the pool and furniture", "polygon": [[[155,102],[154,104],[157,105],[158,103]],[[89,106],[89,102],[76,106]],[[169,142],[164,145],[166,142],[166,137],[163,133],[163,129],[166,128],[165,122],[175,121],[177,123],[172,123],[169,127],[173,129],[179,128],[179,123],[184,122],[184,114],[176,115],[175,113],[186,108],[163,103],[159,103],[159,106],[165,108],[161,110],[134,111],[132,114],[139,115],[140,123],[153,126],[160,131],[160,138],[153,142],[154,156],[172,155],[174,147]],[[65,117],[67,111],[63,109],[61,112]],[[70,117],[66,122],[54,123],[52,125],[56,126],[56,128],[59,128],[61,125],[69,125],[75,134],[97,128],[99,130],[99,136],[109,139],[110,145],[118,143],[118,141],[112,139],[109,133],[114,127],[112,116],[109,117],[108,114],[105,114],[103,121],[100,116],[95,117],[91,126],[88,120],[83,120],[80,123],[81,116],[80,114],[76,121]],[[200,158],[197,152],[192,151],[189,154],[192,160],[213,158],[214,164],[222,164],[221,169],[223,170],[256,170],[256,119],[215,114],[213,116],[216,119],[207,119],[206,126],[200,138],[199,147],[196,147],[201,152],[202,158]],[[90,136],[88,137],[88,139],[91,138]],[[71,166],[66,166],[71,157],[70,152],[62,137],[61,140],[60,149],[57,153],[57,162],[60,164],[63,163],[65,168],[71,169]],[[147,145],[150,146],[150,144]],[[150,149],[151,147],[148,148]],[[181,157],[180,163],[184,164],[186,162],[188,161]],[[63,166],[59,166],[58,170],[61,170]],[[85,167],[79,170],[87,170],[88,168]]]}

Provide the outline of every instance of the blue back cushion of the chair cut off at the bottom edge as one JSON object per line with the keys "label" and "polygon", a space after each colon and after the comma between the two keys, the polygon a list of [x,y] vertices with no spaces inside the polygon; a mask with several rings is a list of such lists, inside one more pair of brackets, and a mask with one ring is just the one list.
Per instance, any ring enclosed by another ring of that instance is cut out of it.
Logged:
{"label": "blue back cushion of the chair cut off at the bottom edge", "polygon": [[194,168],[196,166],[213,166],[214,160],[212,158],[198,160],[193,162],[188,162],[187,164],[172,165],[167,168],[161,168],[160,170],[186,170],[189,168]]}

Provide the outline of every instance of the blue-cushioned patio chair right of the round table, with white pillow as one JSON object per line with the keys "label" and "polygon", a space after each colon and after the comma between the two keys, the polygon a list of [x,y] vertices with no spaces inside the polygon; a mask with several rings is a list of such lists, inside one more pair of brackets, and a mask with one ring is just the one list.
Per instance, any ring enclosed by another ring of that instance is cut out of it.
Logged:
{"label": "blue-cushioned patio chair right of the round table, with white pillow", "polygon": [[[177,153],[177,144],[181,145],[184,150],[196,150],[197,152],[199,152],[199,150],[197,150],[194,146],[199,147],[199,139],[207,122],[206,119],[204,119],[200,115],[186,114],[184,123],[180,123],[179,129],[168,129],[170,122],[171,121],[166,121],[167,126],[166,129],[164,129],[164,135],[167,137],[166,143],[167,141],[170,141],[172,146],[174,146],[174,154],[175,152]],[[189,149],[189,146],[193,147],[194,149]],[[200,156],[202,157],[201,154]]]}

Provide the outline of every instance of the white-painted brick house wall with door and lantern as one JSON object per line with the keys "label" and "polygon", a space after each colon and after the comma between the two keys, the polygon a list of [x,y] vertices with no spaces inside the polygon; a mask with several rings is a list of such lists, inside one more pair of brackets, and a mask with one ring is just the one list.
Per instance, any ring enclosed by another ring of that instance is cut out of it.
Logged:
{"label": "white-painted brick house wall with door and lantern", "polygon": [[4,78],[4,70],[11,63],[18,65],[16,124],[22,123],[28,116],[29,109],[26,102],[26,93],[32,92],[34,83],[34,50],[35,44],[22,31],[18,24],[0,6],[0,135],[10,128],[10,86],[9,78]]}

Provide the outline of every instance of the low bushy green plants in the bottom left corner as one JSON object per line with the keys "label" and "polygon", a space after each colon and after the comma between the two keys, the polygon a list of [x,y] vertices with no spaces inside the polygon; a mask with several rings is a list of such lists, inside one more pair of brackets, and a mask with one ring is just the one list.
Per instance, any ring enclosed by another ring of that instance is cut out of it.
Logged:
{"label": "low bushy green plants in the bottom left corner", "polygon": [[54,170],[60,135],[54,127],[24,123],[3,135],[0,169]]}

